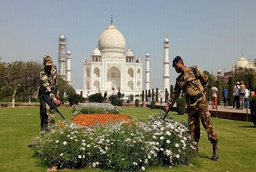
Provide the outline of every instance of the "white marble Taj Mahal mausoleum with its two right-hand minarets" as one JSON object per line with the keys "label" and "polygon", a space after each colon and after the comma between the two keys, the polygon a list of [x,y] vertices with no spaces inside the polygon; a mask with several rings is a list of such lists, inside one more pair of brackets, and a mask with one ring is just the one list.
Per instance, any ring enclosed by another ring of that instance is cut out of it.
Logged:
{"label": "white marble Taj Mahal mausoleum with its two right-hand minarets", "polygon": [[[164,74],[163,90],[169,87],[169,40],[164,39]],[[150,88],[150,70],[149,53],[145,55],[145,89]],[[111,18],[111,24],[100,35],[98,46],[92,51],[91,59],[87,59],[84,53],[83,57],[83,89],[76,89],[83,97],[86,97],[87,91],[90,94],[108,91],[112,94],[112,88],[117,93],[120,89],[125,96],[128,94],[142,93],[142,56],[135,57],[134,52],[126,50],[125,38],[122,33],[114,26]],[[160,88],[161,90],[161,88]]]}

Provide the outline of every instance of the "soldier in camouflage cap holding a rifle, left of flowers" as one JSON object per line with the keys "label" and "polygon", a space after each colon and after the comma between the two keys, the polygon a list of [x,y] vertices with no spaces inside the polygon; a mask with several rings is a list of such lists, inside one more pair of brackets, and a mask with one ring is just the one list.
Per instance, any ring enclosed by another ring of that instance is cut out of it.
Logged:
{"label": "soldier in camouflage cap holding a rifle, left of flowers", "polygon": [[50,99],[59,106],[59,90],[57,82],[57,69],[52,64],[52,58],[50,55],[43,56],[44,68],[40,72],[41,86],[39,89],[40,100],[40,119],[41,119],[41,131],[49,131],[49,127],[55,124],[55,109],[51,109],[48,104],[42,99],[42,94],[48,94]]}

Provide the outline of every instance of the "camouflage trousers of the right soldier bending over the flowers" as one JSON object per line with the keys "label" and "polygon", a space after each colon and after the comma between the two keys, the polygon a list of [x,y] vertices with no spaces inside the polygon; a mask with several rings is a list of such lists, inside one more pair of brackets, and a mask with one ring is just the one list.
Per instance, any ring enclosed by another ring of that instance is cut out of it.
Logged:
{"label": "camouflage trousers of the right soldier bending over the flowers", "polygon": [[218,142],[217,133],[214,129],[211,114],[208,111],[208,105],[205,96],[198,99],[195,103],[187,103],[188,110],[188,124],[190,127],[190,134],[195,142],[199,142],[200,139],[200,120],[203,124],[203,127],[207,131],[208,140],[212,144]]}

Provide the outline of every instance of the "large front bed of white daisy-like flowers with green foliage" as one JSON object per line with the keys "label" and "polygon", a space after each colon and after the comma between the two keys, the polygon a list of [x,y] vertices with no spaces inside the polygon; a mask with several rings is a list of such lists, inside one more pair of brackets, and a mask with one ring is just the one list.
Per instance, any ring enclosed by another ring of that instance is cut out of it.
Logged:
{"label": "large front bed of white daisy-like flowers with green foliage", "polygon": [[172,119],[163,123],[159,115],[128,125],[122,121],[94,127],[73,123],[56,126],[32,144],[49,166],[112,171],[187,165],[194,149],[186,126]]}

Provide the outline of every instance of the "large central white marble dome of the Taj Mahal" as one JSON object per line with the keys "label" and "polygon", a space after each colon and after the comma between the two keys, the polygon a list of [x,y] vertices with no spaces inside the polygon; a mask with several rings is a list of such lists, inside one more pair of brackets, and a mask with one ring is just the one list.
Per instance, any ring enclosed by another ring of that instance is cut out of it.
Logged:
{"label": "large central white marble dome of the Taj Mahal", "polygon": [[122,33],[111,23],[100,35],[98,40],[99,51],[125,53],[125,39]]}

